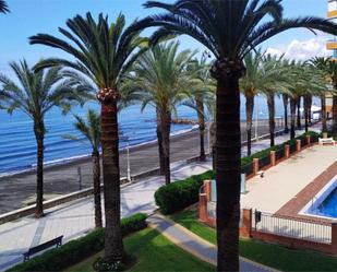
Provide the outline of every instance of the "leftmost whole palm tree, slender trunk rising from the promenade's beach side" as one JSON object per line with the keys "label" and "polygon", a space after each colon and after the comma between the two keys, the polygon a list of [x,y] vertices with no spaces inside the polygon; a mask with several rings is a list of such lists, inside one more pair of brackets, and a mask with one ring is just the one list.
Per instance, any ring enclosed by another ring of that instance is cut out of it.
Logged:
{"label": "leftmost whole palm tree, slender trunk rising from the promenade's beach side", "polygon": [[45,116],[55,106],[68,110],[71,106],[67,99],[75,99],[80,96],[72,88],[69,81],[62,80],[60,68],[48,71],[40,70],[35,73],[25,60],[10,62],[11,70],[15,73],[19,85],[4,74],[0,74],[0,98],[2,107],[10,114],[21,110],[34,122],[34,133],[37,144],[36,167],[36,211],[35,216],[44,215],[44,151],[45,151]]}

